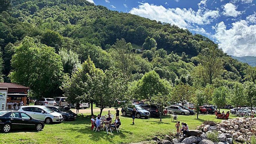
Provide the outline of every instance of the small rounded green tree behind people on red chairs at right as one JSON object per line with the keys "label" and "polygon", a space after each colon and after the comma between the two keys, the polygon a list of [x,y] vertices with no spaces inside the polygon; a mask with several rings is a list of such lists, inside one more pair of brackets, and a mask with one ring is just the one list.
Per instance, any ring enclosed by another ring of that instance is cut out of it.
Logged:
{"label": "small rounded green tree behind people on red chairs at right", "polygon": [[227,104],[227,99],[230,97],[230,93],[227,87],[221,86],[215,88],[213,92],[212,102],[220,109]]}

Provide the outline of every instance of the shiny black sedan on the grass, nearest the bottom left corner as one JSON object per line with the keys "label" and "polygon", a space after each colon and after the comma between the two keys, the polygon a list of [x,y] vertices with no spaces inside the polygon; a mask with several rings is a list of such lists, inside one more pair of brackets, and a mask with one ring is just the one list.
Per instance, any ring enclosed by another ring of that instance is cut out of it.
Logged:
{"label": "shiny black sedan on the grass, nearest the bottom left corner", "polygon": [[26,113],[19,111],[0,111],[0,129],[9,132],[11,129],[35,129],[41,131],[45,124],[41,120],[35,120]]}

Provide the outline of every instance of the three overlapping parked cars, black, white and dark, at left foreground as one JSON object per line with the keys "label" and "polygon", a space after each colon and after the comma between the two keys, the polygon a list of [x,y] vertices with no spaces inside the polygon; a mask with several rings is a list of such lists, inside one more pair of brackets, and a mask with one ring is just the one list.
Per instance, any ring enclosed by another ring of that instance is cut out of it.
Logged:
{"label": "three overlapping parked cars, black, white and dark, at left foreground", "polygon": [[41,131],[44,123],[75,120],[76,117],[77,114],[61,106],[21,106],[18,111],[0,111],[0,129],[3,132],[22,128]]}

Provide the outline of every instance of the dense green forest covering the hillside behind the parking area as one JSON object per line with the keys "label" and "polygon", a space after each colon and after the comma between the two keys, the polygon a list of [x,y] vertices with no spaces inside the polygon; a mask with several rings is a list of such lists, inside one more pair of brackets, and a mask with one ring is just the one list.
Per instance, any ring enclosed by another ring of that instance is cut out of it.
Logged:
{"label": "dense green forest covering the hillside behind the parking area", "polygon": [[29,86],[33,97],[76,93],[70,100],[86,95],[92,102],[93,82],[102,82],[101,95],[115,86],[115,95],[154,101],[145,90],[153,78],[151,89],[173,97],[176,86],[209,92],[255,82],[246,72],[253,68],[209,38],[86,0],[5,0],[0,13],[2,81]]}

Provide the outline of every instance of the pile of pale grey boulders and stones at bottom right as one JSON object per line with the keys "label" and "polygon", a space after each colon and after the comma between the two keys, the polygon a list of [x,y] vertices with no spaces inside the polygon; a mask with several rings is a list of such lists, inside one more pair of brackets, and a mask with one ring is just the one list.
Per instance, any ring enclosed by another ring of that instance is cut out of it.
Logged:
{"label": "pile of pale grey boulders and stones at bottom right", "polygon": [[215,126],[204,125],[196,127],[197,130],[190,130],[189,137],[180,137],[179,139],[166,135],[164,140],[157,137],[153,138],[158,144],[217,144],[207,139],[207,134],[211,132],[218,133],[218,144],[232,144],[233,140],[237,142],[250,143],[253,132],[256,131],[256,118],[233,118],[222,120]]}

